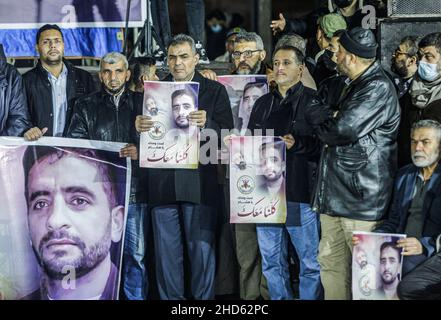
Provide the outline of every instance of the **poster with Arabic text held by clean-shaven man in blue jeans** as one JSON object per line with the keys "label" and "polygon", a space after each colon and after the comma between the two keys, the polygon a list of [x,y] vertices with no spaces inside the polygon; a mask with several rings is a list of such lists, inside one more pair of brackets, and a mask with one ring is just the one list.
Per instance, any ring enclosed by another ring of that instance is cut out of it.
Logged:
{"label": "poster with Arabic text held by clean-shaven man in blue jeans", "polygon": [[278,137],[232,137],[231,223],[285,223],[285,154]]}

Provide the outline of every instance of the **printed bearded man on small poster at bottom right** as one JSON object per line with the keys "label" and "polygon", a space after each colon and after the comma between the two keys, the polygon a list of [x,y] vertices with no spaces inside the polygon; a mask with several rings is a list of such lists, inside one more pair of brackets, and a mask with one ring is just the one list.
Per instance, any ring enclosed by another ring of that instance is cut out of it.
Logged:
{"label": "printed bearded man on small poster at bottom right", "polygon": [[381,286],[374,290],[374,300],[398,300],[400,282],[401,250],[394,242],[384,242],[380,247]]}

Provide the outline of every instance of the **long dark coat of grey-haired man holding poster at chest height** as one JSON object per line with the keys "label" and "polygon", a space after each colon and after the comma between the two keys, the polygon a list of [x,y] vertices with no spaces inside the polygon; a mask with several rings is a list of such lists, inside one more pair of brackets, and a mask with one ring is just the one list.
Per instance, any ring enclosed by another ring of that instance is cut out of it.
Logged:
{"label": "long dark coat of grey-haired man holding poster at chest height", "polygon": [[[173,81],[173,78],[169,75],[164,81]],[[234,126],[227,91],[223,85],[202,77],[197,71],[192,81],[199,83],[199,110],[207,112],[205,127],[217,132],[220,143],[221,129],[231,130]],[[219,200],[219,188],[216,164],[199,164],[196,170],[149,171],[149,204],[152,206],[169,205],[179,201],[215,206]]]}

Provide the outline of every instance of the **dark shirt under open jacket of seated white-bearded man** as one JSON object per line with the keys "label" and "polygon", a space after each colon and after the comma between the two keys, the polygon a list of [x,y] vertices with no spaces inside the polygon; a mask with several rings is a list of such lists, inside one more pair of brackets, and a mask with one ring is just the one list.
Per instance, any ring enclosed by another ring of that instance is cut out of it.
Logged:
{"label": "dark shirt under open jacket of seated white-bearded man", "polygon": [[420,172],[415,181],[412,203],[404,230],[408,237],[421,238],[422,236],[424,226],[423,204],[428,184],[429,180],[424,181],[423,174]]}

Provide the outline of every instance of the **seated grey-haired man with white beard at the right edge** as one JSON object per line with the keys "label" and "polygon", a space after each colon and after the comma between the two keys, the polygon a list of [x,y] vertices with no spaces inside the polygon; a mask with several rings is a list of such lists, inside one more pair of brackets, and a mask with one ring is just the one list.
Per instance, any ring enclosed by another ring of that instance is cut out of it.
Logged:
{"label": "seated grey-haired man with white beard at the right edge", "polygon": [[[441,125],[433,120],[414,124],[411,133],[412,164],[403,167],[395,180],[394,197],[388,219],[374,232],[405,233],[398,241],[403,248],[403,275],[435,253],[441,233],[439,179]],[[354,243],[358,239],[354,237]]]}

